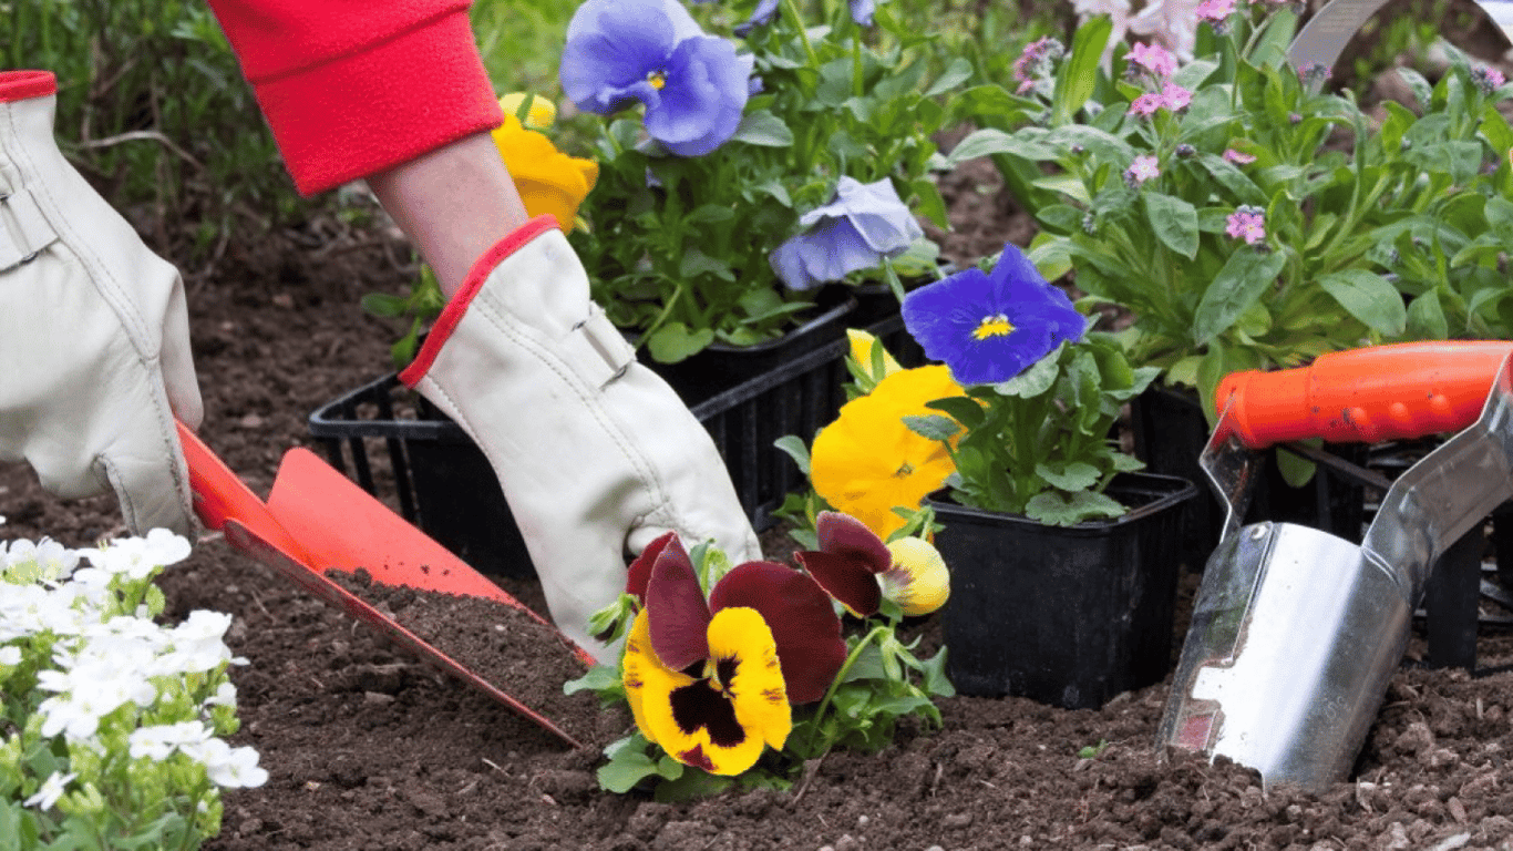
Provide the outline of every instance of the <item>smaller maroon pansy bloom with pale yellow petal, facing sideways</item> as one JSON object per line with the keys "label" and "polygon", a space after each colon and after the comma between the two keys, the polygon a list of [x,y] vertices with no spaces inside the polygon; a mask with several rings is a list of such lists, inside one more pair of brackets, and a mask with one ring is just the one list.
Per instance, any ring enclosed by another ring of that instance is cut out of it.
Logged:
{"label": "smaller maroon pansy bloom with pale yellow petal, facing sideways", "polygon": [[[820,512],[814,531],[820,548],[796,553],[794,559],[852,615],[875,615],[885,597],[905,615],[926,615],[946,603],[950,588],[946,562],[930,544],[902,538],[894,544],[918,544],[896,548],[840,512]],[[903,559],[894,559],[894,553]]]}

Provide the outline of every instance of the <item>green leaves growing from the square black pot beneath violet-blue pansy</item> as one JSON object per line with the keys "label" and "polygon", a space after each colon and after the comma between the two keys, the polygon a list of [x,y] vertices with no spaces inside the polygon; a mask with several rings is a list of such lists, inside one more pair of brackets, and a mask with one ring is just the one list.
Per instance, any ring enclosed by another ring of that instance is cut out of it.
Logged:
{"label": "green leaves growing from the square black pot beneath violet-blue pansy", "polygon": [[1103,491],[1141,463],[1109,433],[1156,373],[1133,369],[1111,335],[1091,332],[1008,382],[930,403],[941,415],[905,424],[950,450],[956,472],[946,483],[956,503],[1052,525],[1114,518],[1124,506]]}

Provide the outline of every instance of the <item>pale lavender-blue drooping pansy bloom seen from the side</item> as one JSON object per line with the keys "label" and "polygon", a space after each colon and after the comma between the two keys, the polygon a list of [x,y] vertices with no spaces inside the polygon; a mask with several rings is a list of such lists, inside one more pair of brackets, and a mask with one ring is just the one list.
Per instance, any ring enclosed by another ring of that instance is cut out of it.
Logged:
{"label": "pale lavender-blue drooping pansy bloom seen from the side", "polygon": [[803,214],[799,226],[809,230],[778,245],[767,257],[790,289],[809,289],[870,270],[924,236],[887,177],[876,183],[841,177],[835,200]]}

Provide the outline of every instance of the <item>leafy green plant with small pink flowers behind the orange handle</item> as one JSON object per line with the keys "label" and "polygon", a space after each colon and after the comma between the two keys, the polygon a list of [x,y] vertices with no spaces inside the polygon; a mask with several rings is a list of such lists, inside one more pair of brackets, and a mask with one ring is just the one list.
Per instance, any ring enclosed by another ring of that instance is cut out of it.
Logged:
{"label": "leafy green plant with small pink flowers behind the orange handle", "polygon": [[1327,70],[1286,62],[1289,6],[1212,0],[1195,17],[1189,61],[1111,41],[1108,15],[1070,50],[1030,45],[1027,123],[968,139],[1017,168],[1011,188],[1042,227],[1032,256],[1129,312],[1130,360],[1197,388],[1212,416],[1238,369],[1508,336],[1501,74],[1446,47],[1434,85],[1398,70],[1419,112],[1389,101],[1378,123],[1327,91]]}

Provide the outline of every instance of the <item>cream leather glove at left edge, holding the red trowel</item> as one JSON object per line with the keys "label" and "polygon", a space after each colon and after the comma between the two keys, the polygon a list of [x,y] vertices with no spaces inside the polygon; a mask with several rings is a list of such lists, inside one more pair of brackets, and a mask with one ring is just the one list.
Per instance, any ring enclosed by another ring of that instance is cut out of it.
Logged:
{"label": "cream leather glove at left edge, holding the red trowel", "polygon": [[133,533],[194,530],[177,413],[200,424],[183,282],[57,150],[57,85],[0,73],[0,460]]}

